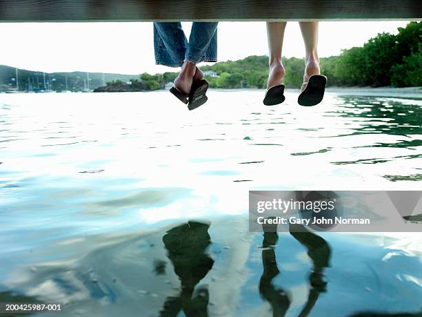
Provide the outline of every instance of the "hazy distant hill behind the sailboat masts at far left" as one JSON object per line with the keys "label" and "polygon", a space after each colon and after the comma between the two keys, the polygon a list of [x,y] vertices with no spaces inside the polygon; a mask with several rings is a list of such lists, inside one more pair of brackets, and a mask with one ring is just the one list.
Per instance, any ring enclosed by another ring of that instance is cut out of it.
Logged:
{"label": "hazy distant hill behind the sailboat masts at far left", "polygon": [[[0,90],[16,88],[16,70],[14,67],[0,65]],[[68,90],[82,91],[86,88],[87,73],[46,73],[46,86],[44,87],[44,78],[42,72],[34,72],[18,68],[19,90],[66,90],[66,78],[68,81]],[[95,89],[105,86],[104,82],[109,81],[130,81],[130,79],[139,79],[139,75],[123,75],[112,73],[89,73],[89,88]]]}

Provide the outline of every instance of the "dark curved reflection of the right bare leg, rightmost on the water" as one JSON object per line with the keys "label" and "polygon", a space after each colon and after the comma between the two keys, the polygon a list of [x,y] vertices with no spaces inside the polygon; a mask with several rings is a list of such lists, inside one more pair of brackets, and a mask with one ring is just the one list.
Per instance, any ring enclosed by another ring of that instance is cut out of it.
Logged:
{"label": "dark curved reflection of the right bare leg, rightmost on the water", "polygon": [[331,249],[323,238],[316,236],[316,234],[311,233],[299,224],[291,224],[290,233],[308,249],[308,256],[314,265],[312,273],[310,273],[309,276],[311,289],[308,301],[299,314],[300,317],[305,317],[308,316],[314,307],[316,300],[319,298],[319,294],[325,291],[327,283],[323,280],[323,269],[329,265]]}

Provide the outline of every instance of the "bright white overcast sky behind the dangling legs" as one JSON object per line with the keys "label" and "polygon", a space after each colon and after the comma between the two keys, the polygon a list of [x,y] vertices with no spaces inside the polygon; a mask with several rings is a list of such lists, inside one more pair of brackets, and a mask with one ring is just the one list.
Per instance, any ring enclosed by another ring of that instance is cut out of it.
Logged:
{"label": "bright white overcast sky behind the dangling legs", "polygon": [[[380,32],[397,33],[409,21],[324,21],[319,25],[319,57],[362,46]],[[192,23],[183,22],[189,35]],[[219,61],[268,55],[265,22],[221,22]],[[154,64],[152,23],[0,23],[0,65],[46,73],[164,73]],[[283,56],[303,57],[299,23],[288,22]]]}

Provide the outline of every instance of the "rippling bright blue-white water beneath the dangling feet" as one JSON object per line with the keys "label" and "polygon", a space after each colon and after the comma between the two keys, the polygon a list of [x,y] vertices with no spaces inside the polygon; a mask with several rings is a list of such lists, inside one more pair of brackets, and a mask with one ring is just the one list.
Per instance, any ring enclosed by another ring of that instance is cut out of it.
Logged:
{"label": "rippling bright blue-white water beneath the dangling feet", "polygon": [[288,92],[265,107],[262,94],[210,91],[197,111],[166,92],[0,95],[2,301],[65,302],[60,316],[419,316],[420,234],[263,236],[247,212],[248,190],[421,189],[422,100],[330,93],[302,108]]}

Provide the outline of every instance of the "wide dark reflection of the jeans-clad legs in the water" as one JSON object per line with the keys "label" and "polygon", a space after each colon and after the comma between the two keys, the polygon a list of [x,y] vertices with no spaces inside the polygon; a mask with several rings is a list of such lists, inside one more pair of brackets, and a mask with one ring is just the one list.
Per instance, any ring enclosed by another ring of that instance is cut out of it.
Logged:
{"label": "wide dark reflection of the jeans-clad legs in the water", "polygon": [[208,316],[208,289],[194,287],[210,271],[214,260],[205,253],[210,245],[209,224],[188,222],[165,233],[163,242],[172,261],[174,273],[181,280],[181,293],[165,299],[160,316],[177,316],[183,309],[187,317]]}

